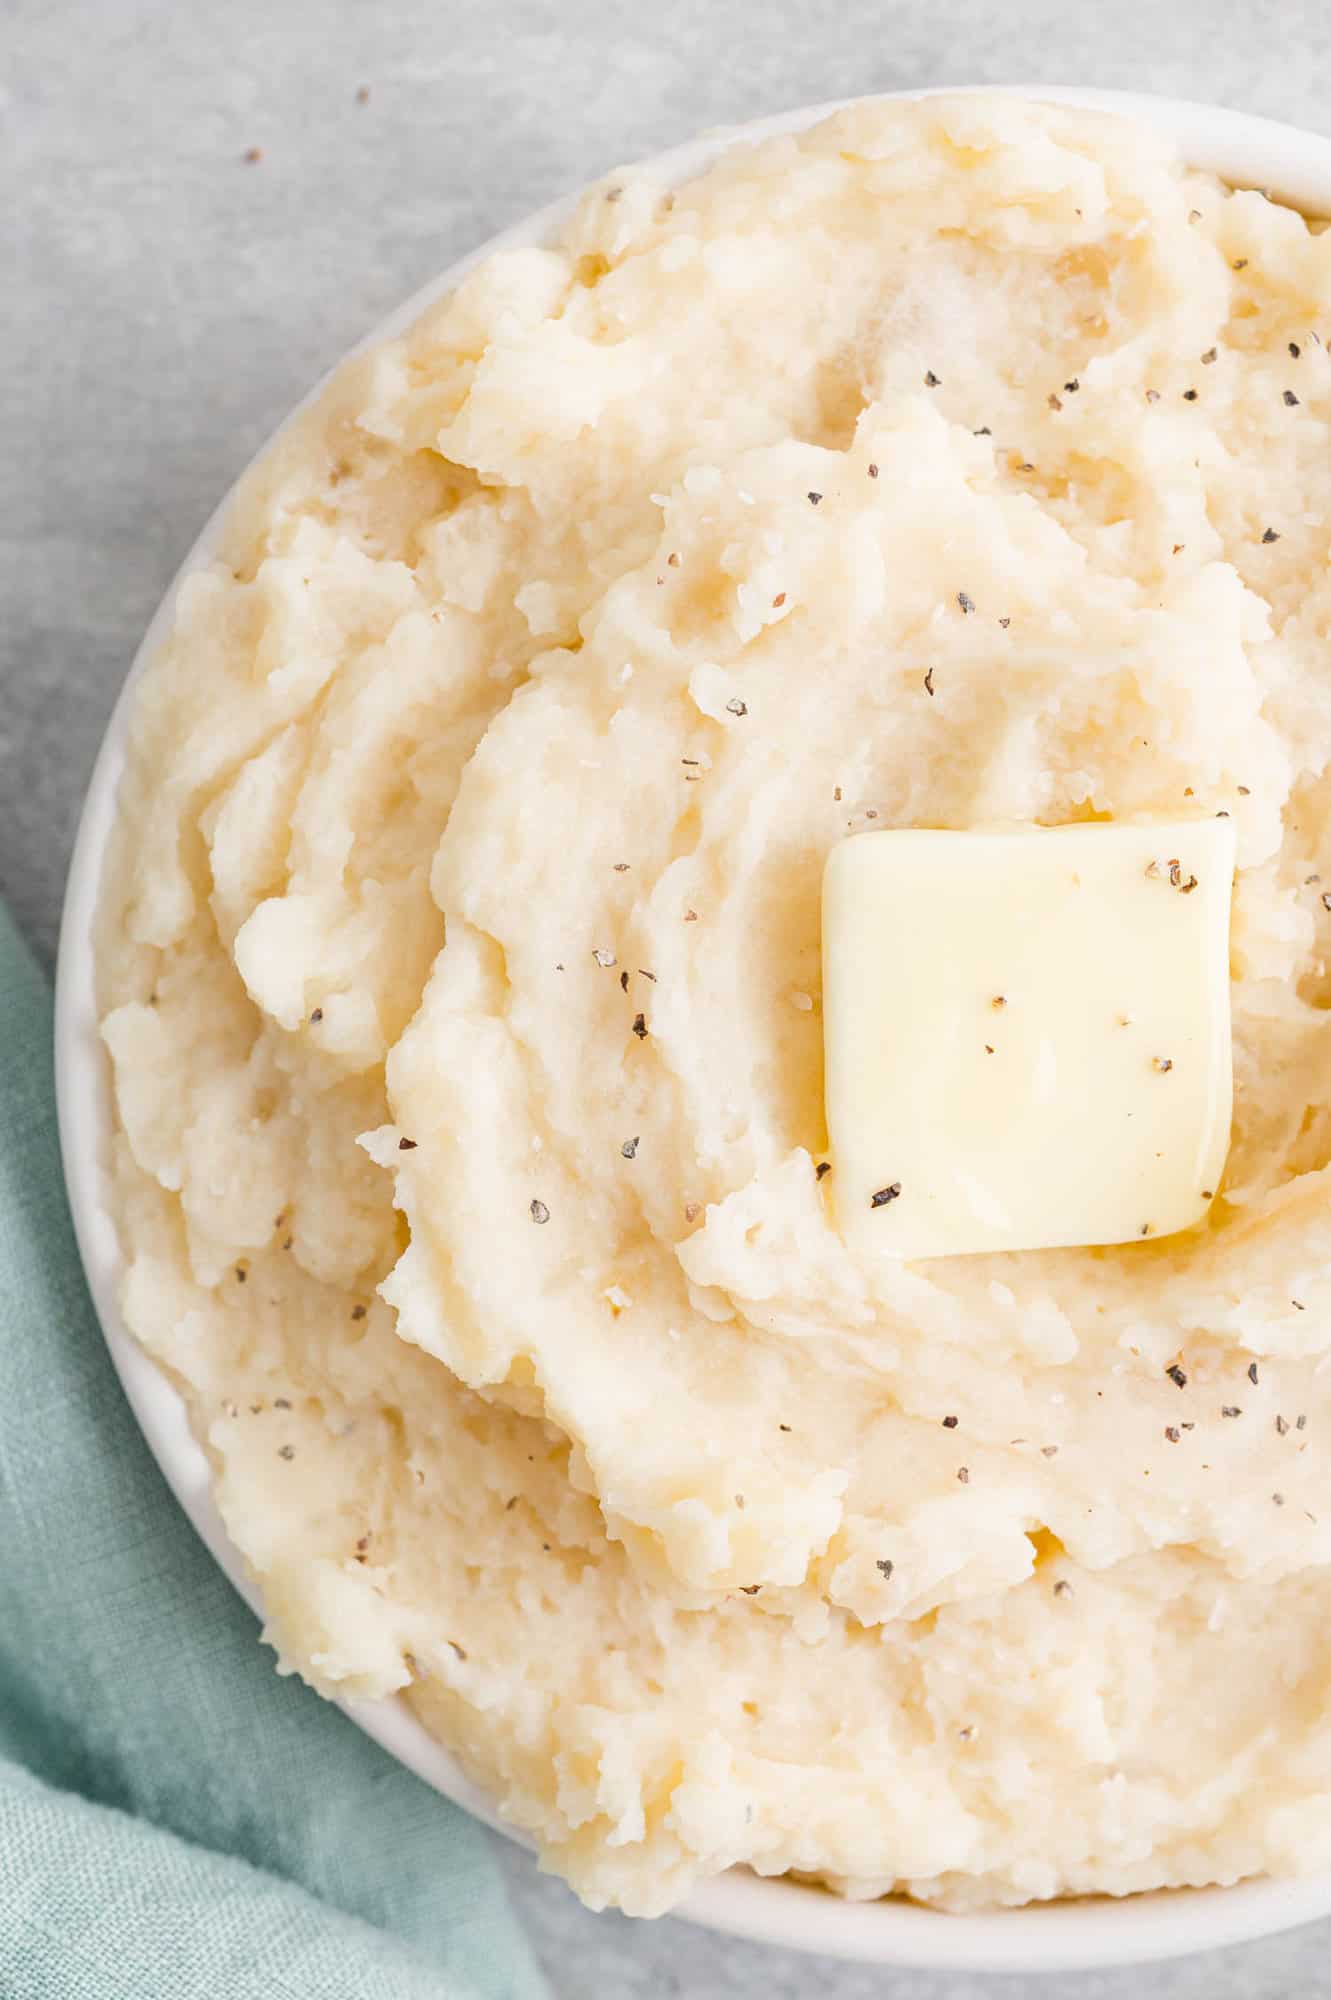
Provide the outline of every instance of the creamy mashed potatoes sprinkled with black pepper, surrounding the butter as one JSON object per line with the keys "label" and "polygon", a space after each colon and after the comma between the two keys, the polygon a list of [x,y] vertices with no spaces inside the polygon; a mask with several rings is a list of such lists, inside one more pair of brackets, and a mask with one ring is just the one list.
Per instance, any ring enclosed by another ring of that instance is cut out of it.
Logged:
{"label": "creamy mashed potatoes sprinkled with black pepper, surrounding the butter", "polygon": [[[1331,1862],[1319,328],[1331,240],[1141,130],[869,104],[492,256],[180,592],[100,940],[128,1320],[284,1662],[594,1904]],[[857,1262],[829,846],[1183,810],[1209,1224]]]}

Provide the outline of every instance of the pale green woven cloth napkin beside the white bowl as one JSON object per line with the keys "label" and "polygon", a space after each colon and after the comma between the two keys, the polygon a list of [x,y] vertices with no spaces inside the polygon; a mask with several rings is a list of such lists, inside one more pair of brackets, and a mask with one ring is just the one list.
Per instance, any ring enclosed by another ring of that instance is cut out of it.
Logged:
{"label": "pale green woven cloth napkin beside the white bowl", "polygon": [[138,1434],[0,906],[0,1994],[542,1992],[482,1828],[278,1678]]}

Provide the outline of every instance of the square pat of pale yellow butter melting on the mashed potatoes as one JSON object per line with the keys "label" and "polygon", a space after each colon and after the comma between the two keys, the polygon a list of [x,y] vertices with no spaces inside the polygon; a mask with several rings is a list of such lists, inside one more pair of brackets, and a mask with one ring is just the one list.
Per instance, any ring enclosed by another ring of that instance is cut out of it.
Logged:
{"label": "square pat of pale yellow butter melting on the mashed potatoes", "polygon": [[1169,1236],[1229,1148],[1229,818],[871,832],[823,876],[841,1234],[895,1258]]}

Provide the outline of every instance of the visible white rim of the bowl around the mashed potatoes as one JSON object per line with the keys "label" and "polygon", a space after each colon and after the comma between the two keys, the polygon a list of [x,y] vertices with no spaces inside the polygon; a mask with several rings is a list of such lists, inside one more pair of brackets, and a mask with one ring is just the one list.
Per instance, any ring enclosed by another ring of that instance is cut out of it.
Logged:
{"label": "visible white rim of the bowl around the mashed potatoes", "polygon": [[[1133,96],[1117,90],[1007,88],[1019,96],[1135,116],[1171,134],[1195,166],[1209,168],[1243,186],[1267,188],[1311,214],[1331,214],[1331,140],[1311,132],[1297,132],[1293,126],[1275,124],[1269,118],[1249,118],[1241,112],[1173,98]],[[927,90],[887,92],[887,96],[905,98],[937,94]],[[759,118],[753,124],[713,132],[673,152],[660,154],[652,164],[667,176],[683,180],[705,168],[727,146],[801,130],[837,108],[837,104],[815,104],[783,112],[777,118]],[[452,290],[464,272],[492,250],[550,240],[576,200],[576,194],[566,196],[528,222],[506,230],[504,236],[482,244],[480,250],[462,258],[368,334],[362,348],[404,332],[418,312]],[[106,1156],[112,1130],[110,1078],[98,1040],[92,968],[92,918],[100,890],[102,856],[126,762],[134,682],[166,640],[180,578],[212,556],[228,502],[230,496],[186,556],[180,576],[152,620],[92,772],[60,928],[56,1094],[74,1228],[112,1362],[176,1498],[236,1590],[256,1612],[262,1612],[260,1594],[246,1576],[240,1552],[222,1526],[212,1498],[208,1460],[190,1432],[184,1402],[130,1336],[120,1316],[124,1264],[106,1202]],[[456,1758],[426,1734],[406,1702],[392,1698],[344,1702],[342,1706],[362,1730],[446,1798],[466,1806],[468,1812],[510,1838],[530,1844],[526,1836],[504,1824],[494,1802],[462,1774]],[[831,1952],[839,1958],[887,1966],[1053,1972],[1173,1958],[1183,1952],[1287,1930],[1293,1924],[1331,1914],[1331,1876],[1281,1882],[1253,1880],[1233,1888],[1167,1890],[1121,1900],[1089,1898],[1035,1904],[1023,1910],[995,1910],[981,1916],[945,1916],[907,1902],[843,1902],[817,1888],[731,1870],[695,1890],[677,1914],[715,1930],[759,1938],[765,1944]]]}

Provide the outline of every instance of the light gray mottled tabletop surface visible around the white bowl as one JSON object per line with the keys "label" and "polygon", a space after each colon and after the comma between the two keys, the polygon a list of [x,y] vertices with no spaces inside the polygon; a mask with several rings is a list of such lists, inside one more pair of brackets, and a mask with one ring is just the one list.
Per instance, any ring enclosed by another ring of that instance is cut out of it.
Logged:
{"label": "light gray mottled tabletop surface visible around the white bowl", "polygon": [[[0,894],[48,960],[176,564],[310,382],[462,250],[701,126],[859,90],[1085,82],[1331,126],[1325,0],[0,0]],[[502,1846],[562,2000],[1331,1996],[1331,1924],[1121,1974],[883,1974],[592,1916]]]}

